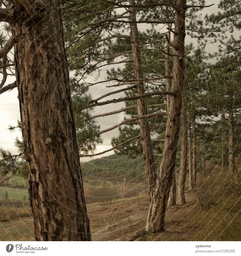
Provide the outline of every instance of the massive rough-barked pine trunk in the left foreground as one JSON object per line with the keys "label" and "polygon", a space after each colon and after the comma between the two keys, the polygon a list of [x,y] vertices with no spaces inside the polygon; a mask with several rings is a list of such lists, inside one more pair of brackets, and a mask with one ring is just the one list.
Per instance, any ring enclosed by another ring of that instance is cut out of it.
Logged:
{"label": "massive rough-barked pine trunk in the left foreground", "polygon": [[[14,12],[14,60],[37,241],[90,241],[58,0]],[[39,36],[40,35],[40,36]]]}

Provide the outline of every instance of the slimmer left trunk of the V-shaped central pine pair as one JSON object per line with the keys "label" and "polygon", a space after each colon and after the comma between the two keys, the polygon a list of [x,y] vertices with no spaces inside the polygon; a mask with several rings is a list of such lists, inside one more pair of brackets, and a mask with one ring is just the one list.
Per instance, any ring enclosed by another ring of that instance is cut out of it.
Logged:
{"label": "slimmer left trunk of the V-shaped central pine pair", "polygon": [[[130,5],[135,5],[134,0],[129,1]],[[136,12],[135,8],[130,8],[130,21],[136,21]],[[138,40],[138,29],[136,23],[130,24],[130,36],[131,36],[131,45],[132,45],[132,54],[133,54],[133,65],[136,79],[142,79],[142,64],[140,57],[140,47]],[[142,95],[145,93],[144,83],[142,81],[136,83],[136,94]],[[139,116],[147,115],[148,109],[145,98],[137,100],[137,112]],[[148,119],[139,120],[140,135],[142,142],[143,157],[145,161],[145,171],[146,178],[149,188],[149,200],[152,198],[152,194],[155,188],[155,183],[157,179],[157,173],[155,168],[155,159],[152,148],[152,139],[150,134],[149,122]]]}

